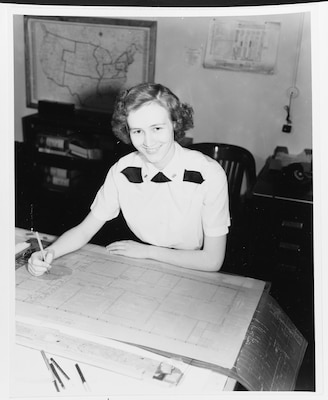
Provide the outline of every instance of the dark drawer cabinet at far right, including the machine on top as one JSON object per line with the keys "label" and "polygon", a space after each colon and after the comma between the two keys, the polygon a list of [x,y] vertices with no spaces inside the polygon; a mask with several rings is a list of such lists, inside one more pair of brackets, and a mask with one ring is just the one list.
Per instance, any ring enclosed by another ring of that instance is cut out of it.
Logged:
{"label": "dark drawer cabinet at far right, including the machine on top", "polygon": [[308,341],[314,332],[311,182],[285,180],[269,162],[250,201],[248,275],[271,282],[271,295]]}

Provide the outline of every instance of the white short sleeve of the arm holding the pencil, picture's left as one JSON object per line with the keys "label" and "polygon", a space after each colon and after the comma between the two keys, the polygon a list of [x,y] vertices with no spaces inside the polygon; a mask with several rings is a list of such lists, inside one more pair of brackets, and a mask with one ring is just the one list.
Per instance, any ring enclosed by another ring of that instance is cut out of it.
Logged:
{"label": "white short sleeve of the arm holding the pencil, picture's left", "polygon": [[92,214],[101,221],[109,221],[116,218],[120,211],[119,196],[116,183],[117,165],[113,165],[91,204]]}

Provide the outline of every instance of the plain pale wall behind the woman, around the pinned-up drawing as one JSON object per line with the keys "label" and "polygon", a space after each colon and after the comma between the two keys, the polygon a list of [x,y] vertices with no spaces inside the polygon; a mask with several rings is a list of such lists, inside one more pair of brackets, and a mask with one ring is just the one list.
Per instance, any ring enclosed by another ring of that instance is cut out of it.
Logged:
{"label": "plain pale wall behind the woman, around the pinned-up drawing", "polygon": [[[304,18],[304,19],[303,19]],[[202,66],[209,17],[159,17],[155,81],[167,85],[195,110],[194,142],[217,141],[250,150],[257,170],[276,146],[287,146],[297,154],[312,148],[311,37],[310,14],[282,14],[243,17],[257,22],[280,22],[280,43],[276,73],[265,75],[208,69]],[[304,22],[301,25],[302,21]],[[281,131],[288,104],[287,89],[293,84],[299,27],[301,51],[296,86],[299,96],[291,110],[291,134]],[[14,20],[15,34],[15,139],[22,140],[21,117],[35,112],[25,105],[23,17]],[[188,62],[188,51],[201,54]]]}

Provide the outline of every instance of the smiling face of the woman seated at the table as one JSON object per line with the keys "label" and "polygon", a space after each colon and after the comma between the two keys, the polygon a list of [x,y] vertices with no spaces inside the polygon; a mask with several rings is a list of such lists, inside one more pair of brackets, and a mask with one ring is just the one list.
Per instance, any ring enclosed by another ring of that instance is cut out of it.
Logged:
{"label": "smiling face of the woman seated at the table", "polygon": [[168,111],[157,103],[145,104],[129,113],[127,123],[133,146],[163,169],[174,154],[174,126]]}

